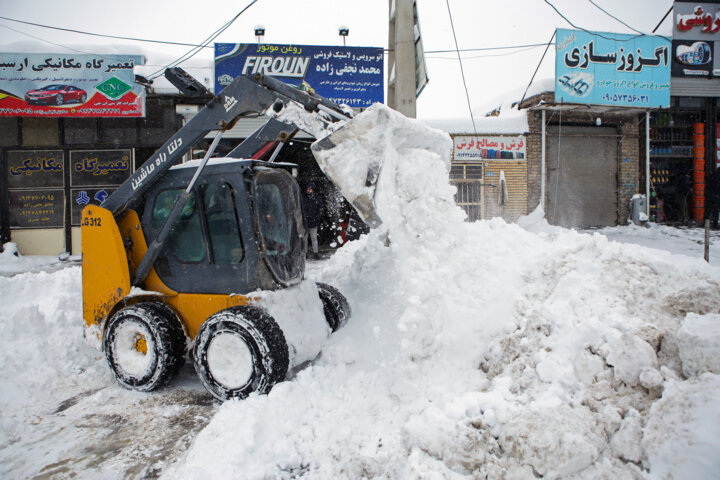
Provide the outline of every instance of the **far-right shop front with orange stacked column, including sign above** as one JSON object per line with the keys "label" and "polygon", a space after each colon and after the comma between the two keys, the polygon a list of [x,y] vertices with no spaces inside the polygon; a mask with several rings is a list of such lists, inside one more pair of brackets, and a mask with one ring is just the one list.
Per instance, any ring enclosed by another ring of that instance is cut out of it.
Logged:
{"label": "far-right shop front with orange stacked column, including sign above", "polygon": [[[698,225],[718,168],[720,2],[673,4],[671,102],[650,115],[650,218]],[[717,213],[716,213],[717,214]]]}

